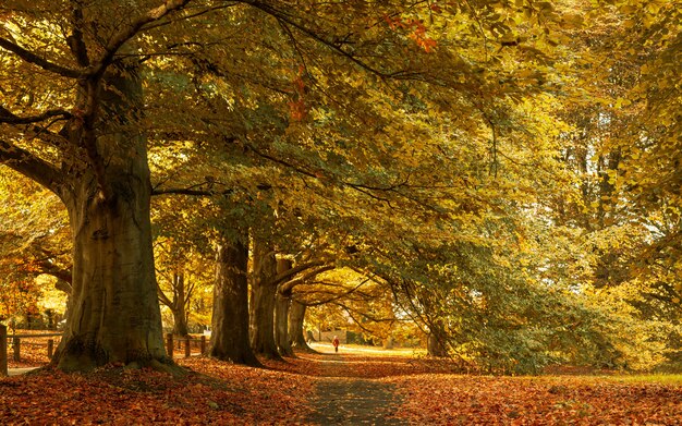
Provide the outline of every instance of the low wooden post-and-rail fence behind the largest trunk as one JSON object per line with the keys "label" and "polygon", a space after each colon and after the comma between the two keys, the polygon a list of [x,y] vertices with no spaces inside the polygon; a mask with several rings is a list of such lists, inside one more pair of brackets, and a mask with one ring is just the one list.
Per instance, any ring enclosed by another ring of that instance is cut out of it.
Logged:
{"label": "low wooden post-and-rail fence behind the largest trunk", "polygon": [[[48,338],[47,343],[27,343],[31,345],[44,345],[47,348],[46,355],[47,358],[50,360],[54,354],[54,339],[56,337],[61,337],[61,333],[46,333],[46,334],[8,334],[7,326],[0,324],[0,376],[8,375],[8,361],[9,361],[9,351],[8,341],[11,342],[12,349],[12,361],[21,362],[22,361],[22,345],[26,343],[22,343],[22,339],[44,339]],[[166,334],[166,352],[168,356],[173,357],[173,352],[175,349],[181,351],[184,349],[184,356],[192,356],[192,348],[198,349],[200,354],[206,353],[206,336],[200,336],[197,338],[187,337],[173,337],[172,333]]]}

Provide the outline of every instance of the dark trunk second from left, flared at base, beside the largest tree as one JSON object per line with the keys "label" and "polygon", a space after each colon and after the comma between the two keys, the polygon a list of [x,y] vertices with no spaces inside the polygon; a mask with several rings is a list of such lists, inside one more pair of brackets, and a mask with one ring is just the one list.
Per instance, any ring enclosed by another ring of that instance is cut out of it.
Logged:
{"label": "dark trunk second from left, flared at base, beside the largest tree", "polygon": [[245,242],[218,244],[209,354],[235,364],[260,366],[248,341],[247,267]]}

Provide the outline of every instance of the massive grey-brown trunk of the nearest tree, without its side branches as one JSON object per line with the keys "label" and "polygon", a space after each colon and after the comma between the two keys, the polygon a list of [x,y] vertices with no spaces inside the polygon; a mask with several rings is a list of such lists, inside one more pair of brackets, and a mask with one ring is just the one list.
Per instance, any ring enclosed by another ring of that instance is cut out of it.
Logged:
{"label": "massive grey-brown trunk of the nearest tree, without its side branches", "polygon": [[126,72],[108,77],[112,88],[102,88],[107,115],[96,144],[103,170],[76,172],[61,194],[74,240],[71,306],[54,358],[64,370],[112,362],[162,368],[169,362],[151,251],[146,139],[129,121],[142,106],[142,84],[131,76],[134,70]]}

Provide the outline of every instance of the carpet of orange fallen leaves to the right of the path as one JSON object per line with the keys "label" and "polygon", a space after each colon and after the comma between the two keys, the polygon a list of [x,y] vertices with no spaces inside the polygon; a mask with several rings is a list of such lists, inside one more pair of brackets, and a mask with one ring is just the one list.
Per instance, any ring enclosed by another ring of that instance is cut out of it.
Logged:
{"label": "carpet of orange fallen leaves to the right of the path", "polygon": [[677,424],[682,388],[587,377],[422,375],[386,380],[414,424]]}

